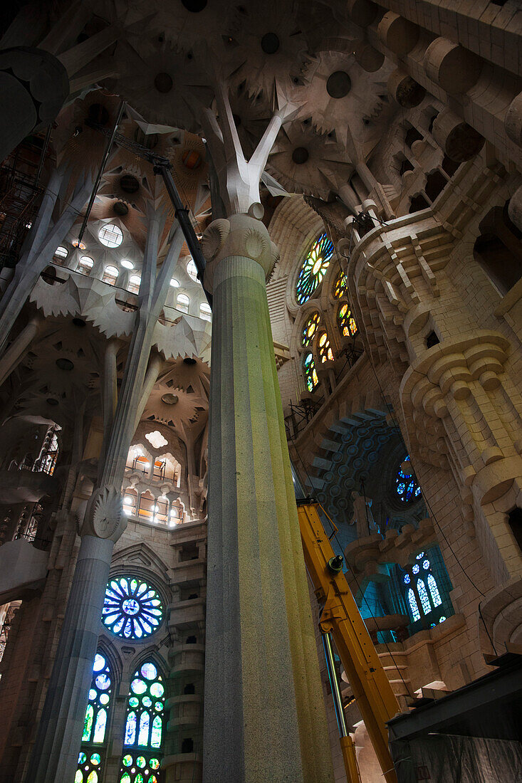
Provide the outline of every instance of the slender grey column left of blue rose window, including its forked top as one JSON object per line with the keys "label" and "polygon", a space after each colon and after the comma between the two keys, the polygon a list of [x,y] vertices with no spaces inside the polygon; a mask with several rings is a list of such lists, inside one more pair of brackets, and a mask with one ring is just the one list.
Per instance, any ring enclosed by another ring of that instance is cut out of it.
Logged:
{"label": "slender grey column left of blue rose window, including its forked top", "polygon": [[[80,526],[82,543],[26,783],[74,780],[112,551],[126,526],[121,509],[125,460],[136,430],[136,419],[147,402],[143,399],[143,389],[150,381],[147,366],[154,326],[165,305],[172,271],[183,245],[183,233],[178,228],[156,276],[163,217],[158,208],[150,208],[140,307],[136,311],[110,435],[100,456],[98,485],[87,503]],[[150,367],[155,368],[157,376],[159,363],[152,359]],[[106,409],[107,416],[111,416],[111,406],[107,405]]]}

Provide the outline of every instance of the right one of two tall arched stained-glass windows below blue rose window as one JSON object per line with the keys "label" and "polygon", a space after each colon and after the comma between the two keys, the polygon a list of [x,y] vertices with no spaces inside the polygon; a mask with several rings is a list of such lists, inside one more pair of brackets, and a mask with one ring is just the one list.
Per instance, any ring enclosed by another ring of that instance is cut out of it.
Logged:
{"label": "right one of two tall arched stained-glass windows below blue rose window", "polygon": [[163,741],[165,687],[148,661],[132,678],[118,783],[158,783]]}

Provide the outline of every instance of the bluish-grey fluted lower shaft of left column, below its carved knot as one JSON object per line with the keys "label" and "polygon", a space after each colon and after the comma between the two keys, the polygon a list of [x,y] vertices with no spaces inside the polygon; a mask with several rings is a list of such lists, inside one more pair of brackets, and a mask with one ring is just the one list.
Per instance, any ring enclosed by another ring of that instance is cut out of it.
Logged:
{"label": "bluish-grey fluted lower shaft of left column, below its carved knot", "polygon": [[71,783],[96,655],[114,541],[84,536],[26,783]]}

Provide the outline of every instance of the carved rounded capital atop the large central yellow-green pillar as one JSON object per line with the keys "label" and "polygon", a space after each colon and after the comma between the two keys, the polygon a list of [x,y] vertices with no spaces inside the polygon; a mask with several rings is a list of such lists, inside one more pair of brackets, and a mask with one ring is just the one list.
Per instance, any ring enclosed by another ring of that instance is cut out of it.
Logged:
{"label": "carved rounded capital atop the large central yellow-green pillar", "polygon": [[205,288],[212,292],[212,281],[216,266],[223,258],[238,255],[251,258],[263,267],[266,279],[269,278],[274,265],[279,260],[277,245],[270,240],[266,226],[261,222],[263,207],[252,204],[245,212],[230,215],[229,218],[219,218],[212,221],[205,230],[201,241],[201,249],[207,259],[205,270]]}

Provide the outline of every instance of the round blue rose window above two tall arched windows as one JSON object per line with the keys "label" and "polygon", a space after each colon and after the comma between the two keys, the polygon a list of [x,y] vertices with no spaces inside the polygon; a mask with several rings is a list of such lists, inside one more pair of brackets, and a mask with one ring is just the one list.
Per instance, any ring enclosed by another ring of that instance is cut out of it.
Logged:
{"label": "round blue rose window above two tall arched windows", "polygon": [[107,584],[102,620],[124,639],[142,639],[158,629],[163,604],[158,592],[143,579],[121,576]]}

